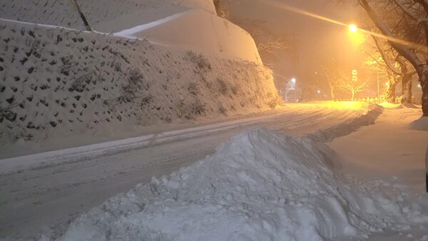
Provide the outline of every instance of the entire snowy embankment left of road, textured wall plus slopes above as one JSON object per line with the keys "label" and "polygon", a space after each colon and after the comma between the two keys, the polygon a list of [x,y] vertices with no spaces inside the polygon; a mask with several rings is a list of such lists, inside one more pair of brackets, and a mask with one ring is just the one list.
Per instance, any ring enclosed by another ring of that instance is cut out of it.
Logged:
{"label": "entire snowy embankment left of road, textured wall plus slopes above", "polygon": [[[78,1],[95,32],[73,29],[82,29],[81,19],[69,2],[2,3],[0,18],[15,19],[0,20],[4,148],[76,135],[109,140],[136,135],[133,126],[235,116],[278,103],[253,39],[215,16],[211,1]],[[70,145],[76,143],[59,148]]]}

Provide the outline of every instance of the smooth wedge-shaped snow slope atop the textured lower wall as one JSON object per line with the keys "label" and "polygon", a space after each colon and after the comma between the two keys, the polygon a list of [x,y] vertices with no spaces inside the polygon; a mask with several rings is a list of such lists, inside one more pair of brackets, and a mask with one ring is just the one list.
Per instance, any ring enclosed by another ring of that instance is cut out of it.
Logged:
{"label": "smooth wedge-shaped snow slope atop the textured lower wall", "polygon": [[175,14],[115,35],[131,35],[131,38],[148,39],[154,43],[192,49],[223,58],[262,63],[257,46],[248,32],[226,19],[200,9]]}

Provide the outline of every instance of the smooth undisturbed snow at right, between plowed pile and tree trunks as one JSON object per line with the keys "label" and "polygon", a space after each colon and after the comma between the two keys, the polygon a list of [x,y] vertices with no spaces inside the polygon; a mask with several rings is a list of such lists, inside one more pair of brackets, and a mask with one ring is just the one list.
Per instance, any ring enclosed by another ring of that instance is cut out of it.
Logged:
{"label": "smooth undisturbed snow at right, between plowed pile and tree trunks", "polygon": [[[388,200],[401,202],[399,208],[404,216],[418,212],[423,216],[422,219],[414,217],[397,229],[386,229],[371,240],[403,240],[401,235],[412,235],[412,240],[421,240],[427,234],[424,160],[428,135],[425,131],[409,128],[409,124],[420,116],[422,110],[415,108],[385,110],[375,125],[329,144],[337,153],[342,173],[360,180],[360,185],[366,186],[371,193],[387,193]],[[373,183],[383,183],[384,186],[374,189],[371,188]]]}

